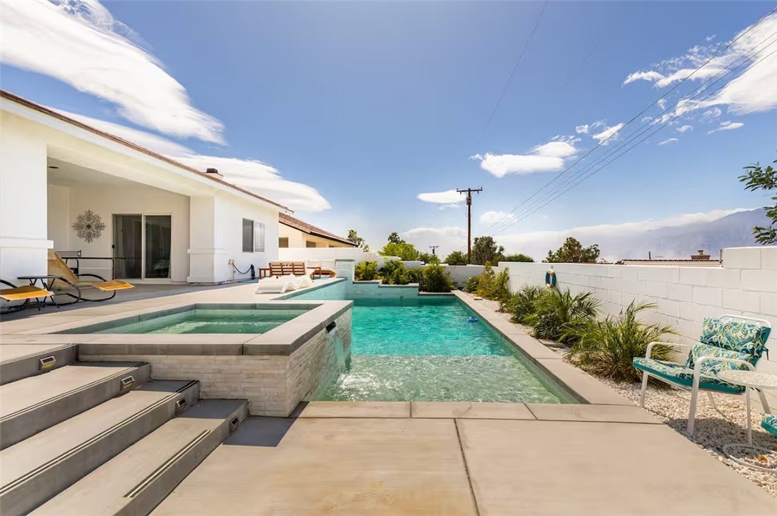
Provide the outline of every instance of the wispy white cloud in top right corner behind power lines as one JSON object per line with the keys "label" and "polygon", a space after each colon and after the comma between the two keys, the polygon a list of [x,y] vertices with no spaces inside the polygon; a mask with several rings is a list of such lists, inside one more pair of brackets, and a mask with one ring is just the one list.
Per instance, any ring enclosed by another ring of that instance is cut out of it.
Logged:
{"label": "wispy white cloud in top right corner behind power lines", "polygon": [[[749,31],[748,31],[749,30]],[[687,78],[695,68],[704,64],[690,80],[702,81],[721,74],[727,68],[737,68],[727,75],[728,82],[709,99],[699,103],[697,108],[708,106],[727,106],[730,113],[744,114],[771,110],[777,106],[777,54],[771,53],[768,46],[773,43],[777,32],[777,13],[765,18],[758,26],[740,31],[740,39],[731,44],[720,55],[722,43],[697,45],[685,54],[670,58],[654,65],[653,70],[636,71],[625,78],[624,84],[644,80],[653,82],[656,88],[664,88]],[[705,64],[709,60],[709,64]],[[740,75],[741,74],[741,75]],[[738,75],[738,76],[737,76]],[[722,74],[721,74],[722,76]]]}

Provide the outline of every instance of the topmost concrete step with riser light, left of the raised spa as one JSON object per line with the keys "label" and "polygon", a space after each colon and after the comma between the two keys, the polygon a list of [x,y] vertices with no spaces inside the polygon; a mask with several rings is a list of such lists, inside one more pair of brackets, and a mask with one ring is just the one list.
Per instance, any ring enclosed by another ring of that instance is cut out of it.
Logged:
{"label": "topmost concrete step with riser light, left of the raised spa", "polygon": [[0,346],[0,385],[40,375],[76,361],[75,344],[3,344]]}

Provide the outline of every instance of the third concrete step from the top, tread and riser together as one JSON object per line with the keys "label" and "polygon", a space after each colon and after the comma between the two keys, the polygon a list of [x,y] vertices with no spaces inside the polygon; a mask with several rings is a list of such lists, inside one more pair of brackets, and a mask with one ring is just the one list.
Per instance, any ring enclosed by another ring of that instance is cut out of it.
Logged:
{"label": "third concrete step from the top, tread and riser together", "polygon": [[199,394],[198,382],[150,382],[0,451],[3,516],[43,504],[196,403]]}

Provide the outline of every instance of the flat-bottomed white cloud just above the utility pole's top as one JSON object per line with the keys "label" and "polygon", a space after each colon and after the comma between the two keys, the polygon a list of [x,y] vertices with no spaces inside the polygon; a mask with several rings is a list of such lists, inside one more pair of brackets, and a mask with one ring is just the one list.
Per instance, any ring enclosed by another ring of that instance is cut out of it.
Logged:
{"label": "flat-bottomed white cloud just above the utility pole's top", "polygon": [[491,154],[473,155],[469,159],[480,161],[480,168],[493,176],[504,177],[508,174],[533,174],[563,169],[565,159],[577,153],[575,146],[580,138],[573,136],[554,136],[551,141],[535,145],[529,154]]}

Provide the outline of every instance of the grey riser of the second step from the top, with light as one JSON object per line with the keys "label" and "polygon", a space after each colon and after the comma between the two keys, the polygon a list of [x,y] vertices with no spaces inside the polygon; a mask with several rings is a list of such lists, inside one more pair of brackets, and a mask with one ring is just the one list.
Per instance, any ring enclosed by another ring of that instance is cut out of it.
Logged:
{"label": "grey riser of the second step from the top, with light", "polygon": [[127,389],[122,388],[121,381],[127,376],[134,378],[133,388],[139,387],[151,378],[151,366],[142,364],[138,368],[104,378],[84,389],[68,392],[57,399],[40,403],[30,410],[10,415],[0,422],[0,449],[15,445],[125,392]]}

